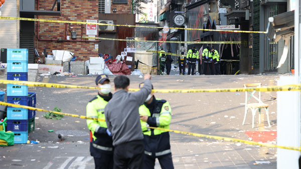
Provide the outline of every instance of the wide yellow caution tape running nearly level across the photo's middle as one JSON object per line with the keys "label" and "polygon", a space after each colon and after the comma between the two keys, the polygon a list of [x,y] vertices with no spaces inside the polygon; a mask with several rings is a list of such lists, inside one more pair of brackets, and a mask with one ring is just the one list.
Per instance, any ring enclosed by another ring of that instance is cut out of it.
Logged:
{"label": "wide yellow caution tape running nearly level across the photo's middle", "polygon": [[[54,88],[87,88],[87,89],[100,89],[99,87],[90,87],[82,85],[71,84],[58,84],[58,83],[45,83],[35,81],[16,81],[16,80],[0,80],[0,84],[18,84],[28,86],[40,87],[54,87]],[[129,91],[138,91],[139,88],[130,88]],[[252,87],[252,88],[214,88],[214,89],[153,89],[152,92],[157,93],[187,93],[187,92],[244,92],[244,91],[300,91],[301,83],[289,85],[273,85],[265,87]]]}

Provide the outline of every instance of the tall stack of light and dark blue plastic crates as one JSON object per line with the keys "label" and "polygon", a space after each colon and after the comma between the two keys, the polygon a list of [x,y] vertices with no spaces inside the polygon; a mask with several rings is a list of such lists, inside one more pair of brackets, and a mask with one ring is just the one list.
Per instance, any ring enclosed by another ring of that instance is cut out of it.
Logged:
{"label": "tall stack of light and dark blue plastic crates", "polygon": [[[28,80],[28,49],[7,49],[8,80]],[[27,85],[8,84],[7,102],[36,107],[36,93],[28,92]],[[15,143],[26,143],[28,132],[35,128],[35,110],[7,108],[7,130],[15,133]]]}

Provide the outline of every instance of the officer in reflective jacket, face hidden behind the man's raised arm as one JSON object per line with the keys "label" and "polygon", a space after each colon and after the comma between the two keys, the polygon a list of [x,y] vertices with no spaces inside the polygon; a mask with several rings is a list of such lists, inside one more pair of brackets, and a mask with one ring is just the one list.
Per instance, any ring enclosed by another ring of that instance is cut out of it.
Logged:
{"label": "officer in reflective jacket, face hidden behind the man's raised arm", "polygon": [[[143,83],[140,83],[139,87],[142,86]],[[144,104],[139,107],[139,114],[144,136],[143,169],[154,169],[156,158],[158,158],[161,168],[174,168],[169,132],[147,128],[147,126],[170,128],[172,109],[169,102],[156,98],[152,92],[148,95]]]}

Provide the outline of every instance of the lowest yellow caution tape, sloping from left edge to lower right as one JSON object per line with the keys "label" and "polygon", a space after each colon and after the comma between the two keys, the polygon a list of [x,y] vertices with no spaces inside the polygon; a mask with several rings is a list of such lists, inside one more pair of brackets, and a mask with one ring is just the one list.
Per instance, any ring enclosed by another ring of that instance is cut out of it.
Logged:
{"label": "lowest yellow caution tape, sloping from left edge to lower right", "polygon": [[[18,104],[3,102],[3,101],[0,101],[0,105],[6,105],[6,106],[11,106],[11,107],[17,107],[17,108],[26,108],[26,109],[37,110],[37,111],[52,112],[52,113],[55,113],[55,114],[67,115],[67,116],[83,118],[83,119],[93,119],[93,120],[98,120],[98,121],[105,121],[105,119],[101,119],[101,118],[92,118],[92,117],[87,117],[87,116],[84,116],[84,115],[71,114],[71,113],[58,112],[58,111],[51,111],[51,110],[31,107],[31,106],[27,106],[27,105],[18,105]],[[198,136],[198,137],[223,139],[225,141],[237,141],[237,142],[243,142],[243,143],[251,144],[251,145],[260,145],[260,146],[266,146],[266,147],[272,147],[272,148],[276,147],[276,148],[283,148],[283,149],[291,149],[291,150],[301,151],[300,147],[263,144],[263,143],[259,143],[259,142],[255,142],[255,141],[243,140],[243,139],[238,139],[238,138],[230,138],[230,137],[223,137],[223,136],[216,136],[216,135],[207,135],[207,134],[200,134],[200,133],[194,133],[194,132],[186,132],[186,131],[179,131],[179,130],[173,130],[173,129],[158,128],[158,127],[148,127],[148,128],[171,131],[171,132],[175,132],[175,133],[188,134],[188,135],[193,135],[193,136]]]}

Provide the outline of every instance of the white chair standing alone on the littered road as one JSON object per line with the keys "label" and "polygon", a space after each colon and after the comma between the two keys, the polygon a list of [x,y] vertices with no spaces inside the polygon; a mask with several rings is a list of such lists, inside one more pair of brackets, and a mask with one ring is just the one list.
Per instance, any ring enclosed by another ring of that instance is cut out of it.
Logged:
{"label": "white chair standing alone on the littered road", "polygon": [[[248,87],[261,87],[261,83],[249,83],[249,84],[244,84],[243,85],[244,88],[248,88]],[[255,95],[256,93],[256,90],[250,92],[250,91],[245,91],[246,93],[246,99],[245,99],[245,114],[244,114],[244,118],[243,118],[243,121],[242,121],[242,125],[244,124],[245,120],[246,120],[246,116],[247,116],[247,111],[248,109],[250,108],[251,111],[252,111],[252,128],[254,128],[254,117],[255,117],[255,114],[256,114],[256,111],[258,109],[259,111],[259,124],[261,122],[260,120],[260,114],[261,114],[261,108],[264,108],[265,109],[265,113],[266,113],[266,116],[267,116],[267,123],[268,123],[268,126],[270,127],[271,124],[270,124],[270,121],[269,121],[269,116],[268,116],[268,104],[265,104],[261,101],[260,99],[260,91],[258,91],[258,97]],[[249,93],[249,97],[248,97],[248,93]],[[251,98],[254,98],[255,100],[257,100],[258,102],[256,103],[248,103],[248,101],[251,99]]]}

